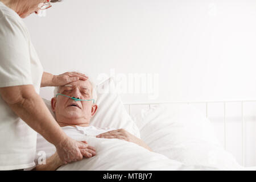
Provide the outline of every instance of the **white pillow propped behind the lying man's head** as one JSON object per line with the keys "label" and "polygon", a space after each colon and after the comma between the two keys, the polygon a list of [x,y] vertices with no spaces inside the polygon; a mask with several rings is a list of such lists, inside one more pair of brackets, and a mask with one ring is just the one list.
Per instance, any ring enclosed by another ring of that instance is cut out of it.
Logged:
{"label": "white pillow propped behind the lying man's head", "polygon": [[[55,114],[51,109],[51,102],[43,99],[53,117]],[[97,85],[98,109],[90,121],[90,125],[95,127],[114,127],[116,129],[125,129],[129,133],[140,138],[139,129],[133,119],[127,113],[121,98],[118,95],[115,83],[112,77]]]}

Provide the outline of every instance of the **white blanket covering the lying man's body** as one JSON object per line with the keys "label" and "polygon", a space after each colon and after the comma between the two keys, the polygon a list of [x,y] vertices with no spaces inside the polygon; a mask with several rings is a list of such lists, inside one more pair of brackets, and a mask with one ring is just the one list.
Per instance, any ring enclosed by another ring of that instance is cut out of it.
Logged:
{"label": "white blanket covering the lying man's body", "polygon": [[162,154],[150,152],[137,144],[120,139],[84,137],[96,147],[96,155],[61,166],[57,170],[208,170],[204,166],[185,166]]}

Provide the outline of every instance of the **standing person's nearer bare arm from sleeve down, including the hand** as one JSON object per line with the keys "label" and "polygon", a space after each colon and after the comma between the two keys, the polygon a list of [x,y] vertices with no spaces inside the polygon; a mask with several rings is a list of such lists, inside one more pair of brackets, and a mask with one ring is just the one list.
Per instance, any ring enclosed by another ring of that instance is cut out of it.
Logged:
{"label": "standing person's nearer bare arm from sleeve down, including the hand", "polygon": [[18,117],[55,145],[63,162],[82,159],[82,148],[88,145],[69,138],[61,130],[33,85],[0,88],[0,94]]}

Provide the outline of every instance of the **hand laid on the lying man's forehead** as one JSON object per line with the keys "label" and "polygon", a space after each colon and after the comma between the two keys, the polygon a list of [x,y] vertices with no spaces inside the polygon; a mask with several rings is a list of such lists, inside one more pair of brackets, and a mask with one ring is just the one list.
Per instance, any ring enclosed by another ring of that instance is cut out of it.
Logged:
{"label": "hand laid on the lying man's forehead", "polygon": [[54,75],[52,82],[54,86],[63,86],[78,80],[85,81],[88,80],[88,77],[78,72],[65,72],[61,75]]}

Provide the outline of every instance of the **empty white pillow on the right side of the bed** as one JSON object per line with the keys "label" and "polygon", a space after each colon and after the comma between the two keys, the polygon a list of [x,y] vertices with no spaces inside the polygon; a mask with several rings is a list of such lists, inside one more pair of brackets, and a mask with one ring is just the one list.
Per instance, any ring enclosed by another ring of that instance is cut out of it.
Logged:
{"label": "empty white pillow on the right side of the bed", "polygon": [[187,165],[236,170],[242,167],[218,142],[214,129],[189,105],[159,105],[135,117],[141,139],[154,151]]}

